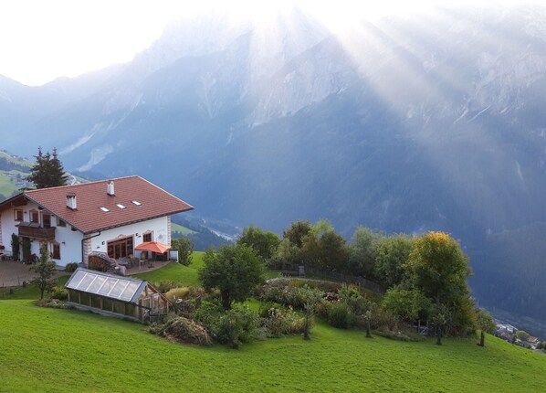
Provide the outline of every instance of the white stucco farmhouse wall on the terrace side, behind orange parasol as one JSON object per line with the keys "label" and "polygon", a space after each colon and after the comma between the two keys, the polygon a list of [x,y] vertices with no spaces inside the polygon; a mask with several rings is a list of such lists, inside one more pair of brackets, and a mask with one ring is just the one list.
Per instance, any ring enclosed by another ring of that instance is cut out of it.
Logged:
{"label": "white stucco farmhouse wall on the terrace side, behind orange parasol", "polygon": [[[108,252],[108,242],[115,239],[132,236],[133,247],[142,243],[142,234],[152,231],[152,241],[171,244],[171,236],[168,232],[168,217],[153,218],[147,221],[137,222],[120,228],[103,230],[100,236],[91,239],[91,251]],[[138,233],[138,236],[136,234]],[[135,251],[135,257],[139,256]]]}

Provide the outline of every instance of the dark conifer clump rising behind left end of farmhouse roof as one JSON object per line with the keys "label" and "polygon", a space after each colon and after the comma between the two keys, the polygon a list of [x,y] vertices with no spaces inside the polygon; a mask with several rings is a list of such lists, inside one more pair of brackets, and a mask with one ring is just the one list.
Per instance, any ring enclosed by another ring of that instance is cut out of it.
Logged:
{"label": "dark conifer clump rising behind left end of farmhouse roof", "polygon": [[38,147],[38,154],[35,155],[36,164],[30,168],[30,175],[26,180],[34,183],[37,188],[49,188],[56,186],[66,186],[68,175],[65,174],[62,163],[58,159],[57,149],[53,149],[53,154],[42,153],[42,148]]}

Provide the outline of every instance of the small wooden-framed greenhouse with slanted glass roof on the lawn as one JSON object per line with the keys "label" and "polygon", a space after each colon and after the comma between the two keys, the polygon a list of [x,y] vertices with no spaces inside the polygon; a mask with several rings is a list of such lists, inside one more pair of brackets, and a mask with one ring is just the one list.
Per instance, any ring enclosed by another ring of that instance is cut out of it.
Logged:
{"label": "small wooden-framed greenhouse with slanted glass roof on the lawn", "polygon": [[142,322],[161,321],[171,303],[148,281],[78,268],[65,284],[68,304]]}

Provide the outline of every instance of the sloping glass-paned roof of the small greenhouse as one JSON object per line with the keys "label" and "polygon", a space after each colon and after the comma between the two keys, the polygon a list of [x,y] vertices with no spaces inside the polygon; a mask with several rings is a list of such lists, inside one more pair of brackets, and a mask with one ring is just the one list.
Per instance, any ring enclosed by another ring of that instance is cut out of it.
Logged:
{"label": "sloping glass-paned roof of the small greenhouse", "polygon": [[122,302],[135,303],[146,281],[131,279],[101,271],[78,268],[65,284],[65,288],[88,292]]}

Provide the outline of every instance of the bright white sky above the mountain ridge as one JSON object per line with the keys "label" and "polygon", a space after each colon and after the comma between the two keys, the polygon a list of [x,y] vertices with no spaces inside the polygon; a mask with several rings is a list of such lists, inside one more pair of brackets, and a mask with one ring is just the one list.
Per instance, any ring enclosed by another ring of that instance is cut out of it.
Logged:
{"label": "bright white sky above the mountain ridge", "polygon": [[[28,86],[128,62],[173,19],[210,7],[265,17],[298,4],[332,29],[359,18],[411,14],[439,0],[183,1],[16,0],[0,2],[0,75]],[[460,0],[459,0],[460,3]],[[496,2],[499,3],[499,2]]]}

